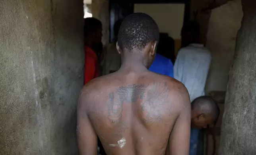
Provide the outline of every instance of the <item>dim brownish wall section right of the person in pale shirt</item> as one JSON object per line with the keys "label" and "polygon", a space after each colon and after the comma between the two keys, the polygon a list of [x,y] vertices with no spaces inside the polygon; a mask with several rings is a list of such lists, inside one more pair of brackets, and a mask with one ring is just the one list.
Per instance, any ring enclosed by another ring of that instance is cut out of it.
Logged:
{"label": "dim brownish wall section right of the person in pale shirt", "polygon": [[212,60],[206,91],[226,91],[242,16],[241,0],[230,1],[211,11],[206,47],[211,51]]}

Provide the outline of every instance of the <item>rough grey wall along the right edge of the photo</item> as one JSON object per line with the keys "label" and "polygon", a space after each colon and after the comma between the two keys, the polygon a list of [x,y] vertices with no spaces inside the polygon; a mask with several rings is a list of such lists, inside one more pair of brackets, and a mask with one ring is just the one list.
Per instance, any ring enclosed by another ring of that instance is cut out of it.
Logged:
{"label": "rough grey wall along the right edge of the photo", "polygon": [[244,17],[229,74],[219,155],[256,154],[256,1],[242,0]]}

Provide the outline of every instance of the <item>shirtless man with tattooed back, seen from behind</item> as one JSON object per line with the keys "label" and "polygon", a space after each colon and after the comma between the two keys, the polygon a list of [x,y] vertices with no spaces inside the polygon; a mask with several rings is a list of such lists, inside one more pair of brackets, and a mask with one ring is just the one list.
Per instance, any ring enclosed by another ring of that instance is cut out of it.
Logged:
{"label": "shirtless man with tattooed back, seen from behind", "polygon": [[124,19],[116,43],[120,70],[87,83],[78,104],[80,155],[188,155],[191,105],[175,79],[148,70],[159,28],[144,13]]}

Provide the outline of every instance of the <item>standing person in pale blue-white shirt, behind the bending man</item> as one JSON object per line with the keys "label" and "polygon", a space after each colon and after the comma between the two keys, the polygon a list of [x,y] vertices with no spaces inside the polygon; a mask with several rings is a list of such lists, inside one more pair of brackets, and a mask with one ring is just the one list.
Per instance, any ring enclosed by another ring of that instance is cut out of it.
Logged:
{"label": "standing person in pale blue-white shirt, behind the bending man", "polygon": [[[173,68],[174,78],[188,89],[191,102],[200,96],[205,96],[204,88],[211,63],[209,50],[198,43],[199,34],[198,23],[190,22],[184,25],[181,32],[183,48],[179,50]],[[200,129],[192,128],[190,132],[189,155],[196,155],[198,144],[202,144],[202,139],[199,140]]]}

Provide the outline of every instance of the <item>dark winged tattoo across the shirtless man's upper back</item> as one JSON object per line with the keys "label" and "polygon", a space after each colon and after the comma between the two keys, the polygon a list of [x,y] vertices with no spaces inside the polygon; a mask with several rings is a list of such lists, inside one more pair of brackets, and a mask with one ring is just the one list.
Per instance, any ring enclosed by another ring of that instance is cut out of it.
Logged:
{"label": "dark winged tattoo across the shirtless man's upper back", "polygon": [[[147,92],[146,92],[147,91]],[[111,123],[120,123],[122,119],[123,104],[132,104],[139,99],[144,100],[145,93],[147,97],[142,104],[142,111],[146,113],[144,121],[146,123],[160,122],[161,115],[170,110],[170,106],[166,103],[169,96],[170,88],[167,82],[153,83],[152,86],[145,85],[128,85],[127,87],[119,87],[115,93],[109,93],[109,120]],[[117,97],[116,100],[115,96]]]}

